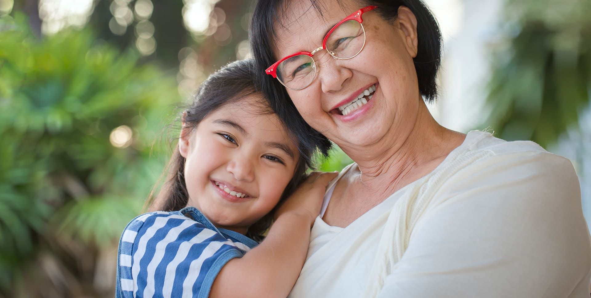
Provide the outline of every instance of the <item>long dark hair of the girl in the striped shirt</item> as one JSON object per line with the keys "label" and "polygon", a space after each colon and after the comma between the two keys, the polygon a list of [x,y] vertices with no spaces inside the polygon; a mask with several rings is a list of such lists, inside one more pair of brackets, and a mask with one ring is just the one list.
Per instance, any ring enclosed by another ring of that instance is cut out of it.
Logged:
{"label": "long dark hair of the girl in the striped shirt", "polygon": [[[183,125],[189,128],[188,133],[199,125],[209,114],[225,104],[241,100],[243,97],[258,93],[261,96],[259,111],[261,114],[273,114],[268,106],[268,101],[260,93],[260,86],[256,83],[254,75],[254,62],[250,59],[239,60],[220,68],[205,80],[193,96],[193,100],[183,114]],[[285,125],[284,125],[285,126]],[[287,126],[286,126],[287,127]],[[289,131],[289,130],[288,130]],[[291,133],[294,135],[293,133]],[[306,170],[311,166],[313,147],[306,147],[297,142],[300,158],[296,163],[294,176],[285,188],[280,202],[288,197],[306,178]],[[185,158],[180,154],[178,144],[173,156],[168,162],[165,175],[167,178],[156,198],[150,196],[147,205],[150,211],[178,211],[187,206],[189,193],[184,179]],[[271,225],[274,211],[269,212],[261,220],[251,225],[246,232],[248,237],[261,241],[264,232]]]}

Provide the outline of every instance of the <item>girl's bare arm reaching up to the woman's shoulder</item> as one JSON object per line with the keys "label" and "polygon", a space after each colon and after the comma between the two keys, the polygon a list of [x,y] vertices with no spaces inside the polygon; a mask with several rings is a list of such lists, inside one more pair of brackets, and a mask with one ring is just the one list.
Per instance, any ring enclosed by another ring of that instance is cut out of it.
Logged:
{"label": "girl's bare arm reaching up to the woman's shoulder", "polygon": [[336,175],[313,173],[281,205],[265,240],[223,266],[209,297],[287,297],[304,266],[326,186]]}

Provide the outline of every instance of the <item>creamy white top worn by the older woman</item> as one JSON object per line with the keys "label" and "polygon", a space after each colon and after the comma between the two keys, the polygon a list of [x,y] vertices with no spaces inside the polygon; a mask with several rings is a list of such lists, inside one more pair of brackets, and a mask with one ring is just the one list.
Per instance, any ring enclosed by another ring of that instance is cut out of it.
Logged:
{"label": "creamy white top worn by the older woman", "polygon": [[590,281],[570,161],[473,131],[347,227],[317,217],[289,297],[583,298]]}

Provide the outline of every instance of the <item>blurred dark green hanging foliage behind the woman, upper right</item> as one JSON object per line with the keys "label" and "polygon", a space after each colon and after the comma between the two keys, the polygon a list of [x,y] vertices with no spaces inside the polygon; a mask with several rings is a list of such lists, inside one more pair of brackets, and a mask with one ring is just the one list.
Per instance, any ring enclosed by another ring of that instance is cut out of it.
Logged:
{"label": "blurred dark green hanging foliage behind the woman, upper right", "polygon": [[509,3],[506,26],[517,31],[493,60],[491,126],[506,140],[556,142],[589,104],[591,9],[588,1]]}

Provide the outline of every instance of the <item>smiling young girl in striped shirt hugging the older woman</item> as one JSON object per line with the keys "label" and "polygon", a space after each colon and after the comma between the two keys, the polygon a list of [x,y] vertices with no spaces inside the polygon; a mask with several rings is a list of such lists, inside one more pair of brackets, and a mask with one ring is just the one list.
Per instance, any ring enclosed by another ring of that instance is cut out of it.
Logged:
{"label": "smiling young girl in striped shirt hugging the older woman", "polygon": [[125,228],[116,297],[285,297],[296,282],[336,174],[314,173],[296,190],[312,149],[256,91],[252,69],[242,60],[212,74],[183,113],[168,180],[151,205],[165,211]]}

